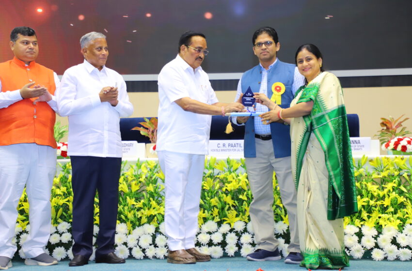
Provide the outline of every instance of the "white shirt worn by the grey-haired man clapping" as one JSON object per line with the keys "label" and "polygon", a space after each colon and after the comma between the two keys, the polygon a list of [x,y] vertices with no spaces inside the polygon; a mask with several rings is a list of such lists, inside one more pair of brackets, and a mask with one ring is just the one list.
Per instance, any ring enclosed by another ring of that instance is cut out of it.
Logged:
{"label": "white shirt worn by the grey-haired man clapping", "polygon": [[[118,88],[116,106],[100,101],[104,87]],[[84,60],[64,72],[56,96],[60,115],[69,119],[68,155],[122,157],[120,117],[133,113],[122,75]]]}

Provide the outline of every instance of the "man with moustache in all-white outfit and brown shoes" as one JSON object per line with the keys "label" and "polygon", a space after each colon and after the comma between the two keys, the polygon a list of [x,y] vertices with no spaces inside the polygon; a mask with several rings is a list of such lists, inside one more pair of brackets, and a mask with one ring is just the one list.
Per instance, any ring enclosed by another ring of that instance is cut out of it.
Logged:
{"label": "man with moustache in all-white outfit and brown shoes", "polygon": [[156,149],[165,175],[165,230],[169,263],[209,261],[194,248],[200,192],[208,151],[210,115],[241,111],[239,103],[219,103],[209,77],[200,67],[206,38],[188,31],[179,54],[158,76],[158,140]]}

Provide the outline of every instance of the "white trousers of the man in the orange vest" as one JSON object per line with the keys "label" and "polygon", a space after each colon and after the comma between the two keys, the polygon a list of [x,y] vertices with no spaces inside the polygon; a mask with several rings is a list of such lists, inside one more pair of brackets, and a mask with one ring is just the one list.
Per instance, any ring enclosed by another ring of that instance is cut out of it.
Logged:
{"label": "white trousers of the man in the orange vest", "polygon": [[50,191],[56,150],[35,143],[0,146],[0,256],[13,258],[17,205],[24,187],[29,200],[30,234],[22,245],[28,258],[44,253],[51,226]]}

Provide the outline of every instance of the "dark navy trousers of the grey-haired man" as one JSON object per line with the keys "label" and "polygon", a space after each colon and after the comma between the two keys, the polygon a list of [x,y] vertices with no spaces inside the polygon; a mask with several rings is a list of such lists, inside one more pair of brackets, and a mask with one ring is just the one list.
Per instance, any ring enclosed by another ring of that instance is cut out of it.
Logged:
{"label": "dark navy trousers of the grey-haired man", "polygon": [[95,256],[114,251],[119,178],[122,158],[70,156],[72,163],[73,255],[93,253],[93,222],[96,189],[99,195],[99,234]]}

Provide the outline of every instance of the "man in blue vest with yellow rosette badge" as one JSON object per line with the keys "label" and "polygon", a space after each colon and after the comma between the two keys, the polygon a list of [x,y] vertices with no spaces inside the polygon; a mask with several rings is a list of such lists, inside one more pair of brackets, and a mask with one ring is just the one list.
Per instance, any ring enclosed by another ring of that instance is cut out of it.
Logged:
{"label": "man in blue vest with yellow rosette badge", "polygon": [[[253,51],[259,65],[246,71],[238,84],[235,101],[250,87],[276,99],[278,105],[289,107],[295,91],[303,85],[304,77],[295,64],[281,62],[276,58],[280,43],[276,30],[262,27],[254,32]],[[256,112],[266,112],[268,107],[256,104]],[[250,216],[257,249],[246,258],[252,261],[280,260],[279,241],[275,238],[273,217],[273,171],[279,183],[282,203],[289,218],[290,244],[285,263],[299,264],[302,256],[299,249],[296,217],[296,189],[290,163],[289,126],[281,122],[264,125],[260,117],[234,117],[232,121],[245,126],[244,156],[249,183],[253,194]]]}

